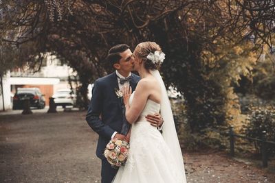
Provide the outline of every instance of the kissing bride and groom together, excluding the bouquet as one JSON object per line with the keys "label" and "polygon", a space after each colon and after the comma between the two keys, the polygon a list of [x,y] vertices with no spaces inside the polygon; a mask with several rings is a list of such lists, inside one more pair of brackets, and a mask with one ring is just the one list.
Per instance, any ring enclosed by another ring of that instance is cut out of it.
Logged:
{"label": "kissing bride and groom together, excluding the bouquet", "polygon": [[[133,53],[125,44],[109,50],[107,60],[115,71],[94,82],[86,116],[99,135],[96,155],[102,162],[102,183],[186,183],[173,113],[159,74],[164,58],[155,42],[141,42]],[[104,157],[111,139],[130,144],[119,169]]]}

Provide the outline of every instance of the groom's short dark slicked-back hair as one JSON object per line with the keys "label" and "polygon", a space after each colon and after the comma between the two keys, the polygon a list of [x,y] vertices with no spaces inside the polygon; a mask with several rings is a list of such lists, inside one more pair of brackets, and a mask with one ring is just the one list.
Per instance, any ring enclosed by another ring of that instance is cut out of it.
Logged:
{"label": "groom's short dark slicked-back hair", "polygon": [[120,44],[120,45],[115,45],[114,47],[111,47],[111,49],[108,52],[107,60],[113,66],[113,64],[118,63],[120,59],[122,58],[120,56],[120,53],[123,51],[126,51],[129,49],[129,45],[126,44]]}

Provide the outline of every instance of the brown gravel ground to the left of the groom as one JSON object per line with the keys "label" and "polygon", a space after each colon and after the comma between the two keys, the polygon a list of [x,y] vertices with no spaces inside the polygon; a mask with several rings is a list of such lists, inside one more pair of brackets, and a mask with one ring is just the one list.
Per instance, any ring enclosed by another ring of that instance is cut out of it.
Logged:
{"label": "brown gravel ground to the left of the groom", "polygon": [[0,182],[100,182],[84,112],[0,116]]}

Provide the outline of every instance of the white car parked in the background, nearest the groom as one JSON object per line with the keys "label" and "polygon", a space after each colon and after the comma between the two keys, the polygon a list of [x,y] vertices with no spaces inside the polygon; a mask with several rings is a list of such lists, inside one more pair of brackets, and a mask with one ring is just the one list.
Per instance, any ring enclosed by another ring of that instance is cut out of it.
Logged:
{"label": "white car parked in the background, nearest the groom", "polygon": [[70,89],[57,90],[52,97],[56,106],[62,106],[63,108],[66,108],[66,106],[76,106],[76,95]]}

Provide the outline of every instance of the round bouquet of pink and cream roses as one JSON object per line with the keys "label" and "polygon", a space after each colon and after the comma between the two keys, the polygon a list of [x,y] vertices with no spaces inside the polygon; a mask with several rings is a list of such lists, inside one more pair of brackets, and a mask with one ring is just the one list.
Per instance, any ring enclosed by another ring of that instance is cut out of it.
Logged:
{"label": "round bouquet of pink and cream roses", "polygon": [[104,150],[104,156],[112,167],[117,168],[125,164],[128,158],[129,148],[129,143],[114,138],[107,144]]}

